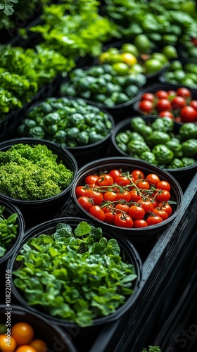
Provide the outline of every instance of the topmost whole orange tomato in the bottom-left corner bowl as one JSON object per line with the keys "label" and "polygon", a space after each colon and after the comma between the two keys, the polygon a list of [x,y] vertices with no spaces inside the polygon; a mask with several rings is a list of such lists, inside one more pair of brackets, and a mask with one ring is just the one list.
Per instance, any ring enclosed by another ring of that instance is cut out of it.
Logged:
{"label": "topmost whole orange tomato in the bottom-left corner bowl", "polygon": [[30,344],[34,337],[34,329],[27,322],[16,322],[11,328],[11,336],[17,346]]}

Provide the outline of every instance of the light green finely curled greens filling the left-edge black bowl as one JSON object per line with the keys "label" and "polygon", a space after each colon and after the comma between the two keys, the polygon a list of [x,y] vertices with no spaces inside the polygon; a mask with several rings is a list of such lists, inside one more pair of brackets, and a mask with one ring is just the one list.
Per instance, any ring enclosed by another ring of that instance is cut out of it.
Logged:
{"label": "light green finely curled greens filling the left-edge black bowl", "polygon": [[15,144],[0,151],[0,192],[14,199],[34,201],[61,193],[73,172],[46,145]]}

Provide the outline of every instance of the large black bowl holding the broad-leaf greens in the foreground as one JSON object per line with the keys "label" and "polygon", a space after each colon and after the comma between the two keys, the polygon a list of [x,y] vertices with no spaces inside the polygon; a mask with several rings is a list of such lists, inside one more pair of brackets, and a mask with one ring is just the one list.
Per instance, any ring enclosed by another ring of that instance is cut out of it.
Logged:
{"label": "large black bowl holding the broad-leaf greens in the foreground", "polygon": [[[81,221],[87,221],[87,220],[84,220],[82,218],[72,218],[72,217],[56,218],[53,220],[49,220],[48,222],[41,223],[36,227],[32,227],[30,230],[25,232],[25,237],[23,239],[23,242],[20,245],[20,249],[23,248],[23,245],[27,242],[27,239],[38,237],[39,234],[48,234],[48,235],[53,234],[56,230],[56,225],[59,222],[66,223],[70,225],[72,229],[75,229],[75,227],[77,227],[77,225]],[[87,221],[87,222],[89,223],[89,225],[94,225],[94,222],[90,222],[90,221]],[[120,306],[119,308],[117,308],[117,310],[115,310],[115,313],[112,313],[107,316],[103,316],[101,318],[96,318],[93,320],[93,324],[87,327],[79,327],[72,321],[63,320],[61,318],[56,318],[47,313],[44,313],[44,310],[42,310],[42,308],[37,308],[36,306],[33,307],[28,305],[27,301],[25,301],[25,298],[23,296],[23,292],[20,292],[20,289],[15,287],[15,284],[13,282],[13,279],[15,277],[11,275],[11,291],[13,293],[13,296],[15,296],[15,298],[21,304],[23,304],[23,306],[25,306],[25,308],[29,309],[31,312],[37,313],[42,317],[46,318],[49,322],[51,322],[51,324],[60,325],[61,327],[65,328],[65,330],[68,330],[68,331],[72,331],[72,330],[74,331],[74,329],[76,329],[78,339],[80,338],[80,336],[82,336],[83,339],[84,339],[84,336],[88,339],[89,338],[88,334],[95,333],[96,331],[98,331],[97,329],[99,329],[101,326],[105,324],[108,324],[108,322],[118,320],[120,317],[122,317],[122,315],[127,313],[127,310],[132,310],[132,308],[135,307],[139,284],[141,280],[141,259],[139,257],[138,252],[134,248],[134,246],[132,246],[132,244],[127,239],[122,237],[121,232],[119,235],[117,235],[117,234],[114,234],[113,232],[103,230],[103,237],[106,237],[106,239],[108,240],[109,239],[117,240],[117,243],[119,244],[120,251],[121,251],[120,256],[124,258],[125,262],[131,263],[132,265],[134,265],[134,270],[136,273],[136,279],[134,279],[133,286],[132,286],[133,294],[127,298],[127,300],[122,306]],[[17,268],[20,268],[21,262],[20,261],[17,262],[15,260],[16,256],[18,256],[20,249],[15,251],[11,260],[9,260],[8,262],[8,268],[11,270],[11,272],[13,272],[13,270]]]}

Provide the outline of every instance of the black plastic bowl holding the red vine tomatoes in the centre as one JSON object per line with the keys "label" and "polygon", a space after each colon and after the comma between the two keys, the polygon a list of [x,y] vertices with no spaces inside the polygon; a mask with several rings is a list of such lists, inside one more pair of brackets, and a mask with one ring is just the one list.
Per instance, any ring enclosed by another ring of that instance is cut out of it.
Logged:
{"label": "black plastic bowl holding the red vine tomatoes in the centre", "polygon": [[[132,172],[132,170],[137,169],[141,170],[144,172],[145,175],[148,175],[149,173],[155,173],[160,177],[160,180],[166,180],[167,182],[170,183],[171,185],[171,191],[170,194],[172,196],[172,199],[177,202],[177,205],[174,207],[172,215],[167,218],[167,220],[164,220],[163,222],[160,222],[159,224],[156,225],[151,225],[148,227],[142,227],[142,228],[122,228],[122,227],[116,227],[115,225],[110,225],[106,222],[101,222],[101,220],[97,220],[94,218],[92,215],[90,215],[82,206],[80,206],[80,203],[77,201],[77,196],[75,194],[75,189],[76,187],[80,185],[84,185],[84,180],[87,175],[94,175],[96,172],[102,171],[110,171],[113,169],[121,169],[123,172],[129,170],[129,172]],[[109,158],[102,158],[98,159],[94,163],[87,163],[84,165],[80,170],[77,172],[77,177],[72,185],[71,189],[71,197],[79,209],[80,213],[82,215],[94,222],[96,225],[101,225],[103,229],[108,230],[108,231],[113,231],[114,233],[120,233],[123,234],[125,237],[127,237],[134,245],[136,244],[146,244],[146,241],[153,241],[158,238],[160,233],[170,225],[170,222],[176,216],[178,215],[180,209],[182,208],[182,189],[177,182],[177,180],[170,175],[170,173],[165,172],[161,170],[160,168],[157,168],[156,166],[150,165],[146,163],[146,161],[141,161],[139,159],[134,159],[134,158],[129,158],[129,157],[109,157]]]}

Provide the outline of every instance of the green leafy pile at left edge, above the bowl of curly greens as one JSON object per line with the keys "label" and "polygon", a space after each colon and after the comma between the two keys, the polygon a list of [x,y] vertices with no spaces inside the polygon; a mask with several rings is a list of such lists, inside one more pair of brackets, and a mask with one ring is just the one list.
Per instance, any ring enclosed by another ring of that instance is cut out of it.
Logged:
{"label": "green leafy pile at left edge, above the bowl of curly greens", "polygon": [[31,100],[44,84],[72,63],[56,51],[23,49],[20,46],[2,46],[0,50],[0,121],[6,113],[21,108]]}

